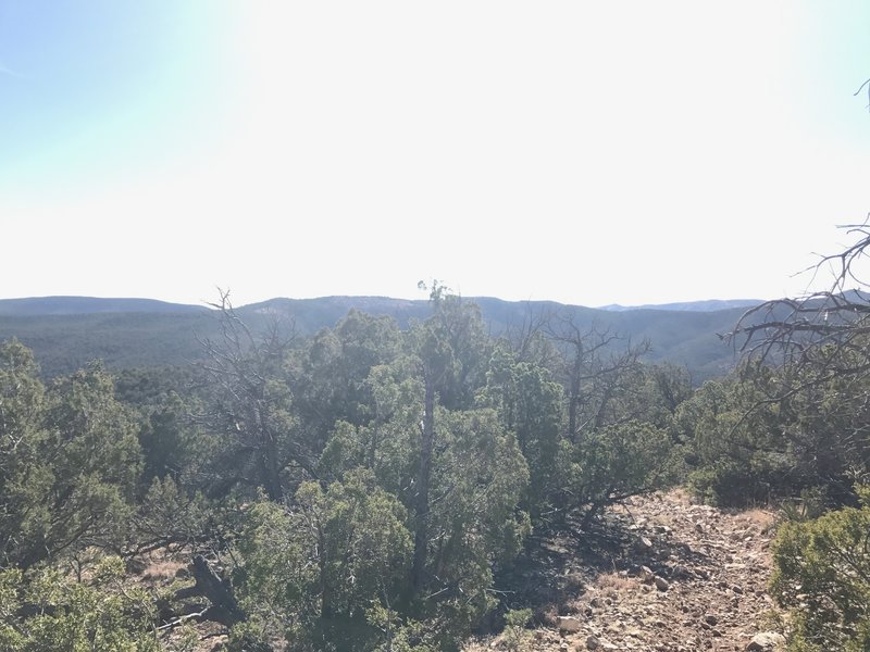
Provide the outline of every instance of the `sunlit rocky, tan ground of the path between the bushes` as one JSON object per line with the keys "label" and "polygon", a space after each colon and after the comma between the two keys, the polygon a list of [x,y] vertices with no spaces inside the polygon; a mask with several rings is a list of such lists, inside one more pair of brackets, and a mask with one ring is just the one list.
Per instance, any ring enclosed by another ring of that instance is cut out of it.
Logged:
{"label": "sunlit rocky, tan ground of the path between the bushes", "polygon": [[543,625],[467,652],[783,645],[766,591],[772,513],[729,514],[672,492],[634,499],[607,518],[619,536],[592,544],[589,536],[546,541],[519,572],[515,607],[533,607]]}

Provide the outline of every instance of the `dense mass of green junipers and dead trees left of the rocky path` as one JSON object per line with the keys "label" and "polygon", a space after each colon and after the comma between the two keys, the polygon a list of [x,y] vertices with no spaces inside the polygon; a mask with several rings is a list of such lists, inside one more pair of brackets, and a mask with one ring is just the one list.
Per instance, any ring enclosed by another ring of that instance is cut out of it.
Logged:
{"label": "dense mass of green junipers and dead trees left of the rocky path", "polygon": [[[4,649],[176,649],[210,619],[231,650],[455,650],[533,528],[675,478],[685,372],[569,318],[493,338],[474,303],[431,300],[403,330],[351,311],[307,338],[225,302],[195,367],[48,385],[2,344]],[[186,584],[125,587],[167,550]]]}

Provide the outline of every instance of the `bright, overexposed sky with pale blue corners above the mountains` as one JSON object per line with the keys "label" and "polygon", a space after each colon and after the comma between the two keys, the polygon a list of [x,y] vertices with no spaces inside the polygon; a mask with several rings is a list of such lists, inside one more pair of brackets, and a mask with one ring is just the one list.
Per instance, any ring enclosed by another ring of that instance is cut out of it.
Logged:
{"label": "bright, overexposed sky with pale blue corners above the mountains", "polygon": [[774,298],[870,211],[867,0],[0,0],[0,298]]}

